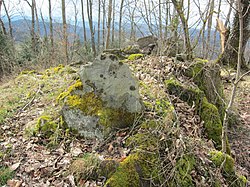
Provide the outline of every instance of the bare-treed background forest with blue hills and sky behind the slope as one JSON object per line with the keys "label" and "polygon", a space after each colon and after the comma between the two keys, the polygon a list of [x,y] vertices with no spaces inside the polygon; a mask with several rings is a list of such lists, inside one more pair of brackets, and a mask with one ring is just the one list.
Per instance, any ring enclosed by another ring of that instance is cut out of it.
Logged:
{"label": "bare-treed background forest with blue hills and sky behind the slope", "polygon": [[162,41],[158,54],[178,41],[179,48],[185,48],[182,53],[215,59],[221,52],[216,18],[233,28],[235,5],[223,0],[1,1],[0,72],[89,60],[104,49],[125,47],[147,35]]}

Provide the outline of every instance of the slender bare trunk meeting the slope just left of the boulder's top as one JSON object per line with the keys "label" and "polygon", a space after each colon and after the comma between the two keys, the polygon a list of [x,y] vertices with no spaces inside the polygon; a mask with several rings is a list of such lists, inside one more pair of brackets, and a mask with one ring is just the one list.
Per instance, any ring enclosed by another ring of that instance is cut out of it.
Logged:
{"label": "slender bare trunk meeting the slope just left of the boulder's top", "polygon": [[89,18],[89,28],[91,33],[91,46],[94,57],[96,57],[96,48],[95,48],[95,31],[93,28],[93,16],[92,16],[92,0],[87,0],[87,12]]}

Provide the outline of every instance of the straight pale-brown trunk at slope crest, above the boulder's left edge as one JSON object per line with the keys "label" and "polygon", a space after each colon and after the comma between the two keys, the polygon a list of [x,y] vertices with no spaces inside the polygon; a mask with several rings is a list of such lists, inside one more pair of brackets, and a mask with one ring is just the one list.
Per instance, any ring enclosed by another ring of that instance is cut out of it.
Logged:
{"label": "straight pale-brown trunk at slope crest, above the boulder's left edge", "polygon": [[63,20],[63,44],[64,44],[64,58],[65,62],[68,63],[68,36],[67,36],[67,22],[65,12],[65,0],[62,0],[62,20]]}

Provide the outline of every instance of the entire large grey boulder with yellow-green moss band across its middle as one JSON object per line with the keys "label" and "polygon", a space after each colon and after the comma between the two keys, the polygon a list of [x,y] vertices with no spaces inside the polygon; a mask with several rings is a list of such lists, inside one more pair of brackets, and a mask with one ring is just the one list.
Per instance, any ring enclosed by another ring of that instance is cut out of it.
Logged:
{"label": "entire large grey boulder with yellow-green moss band across its middle", "polygon": [[138,82],[127,64],[114,55],[102,55],[83,65],[82,86],[72,86],[64,98],[67,125],[87,138],[103,139],[110,131],[132,126],[142,112]]}

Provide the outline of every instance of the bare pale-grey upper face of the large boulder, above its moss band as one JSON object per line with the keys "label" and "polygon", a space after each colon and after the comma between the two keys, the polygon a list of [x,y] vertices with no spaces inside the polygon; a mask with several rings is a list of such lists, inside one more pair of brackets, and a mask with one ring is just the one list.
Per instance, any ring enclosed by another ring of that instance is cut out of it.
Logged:
{"label": "bare pale-grey upper face of the large boulder, above its moss band", "polygon": [[81,67],[79,75],[84,84],[83,91],[94,91],[104,101],[105,107],[141,112],[138,83],[128,65],[110,55],[102,59]]}

